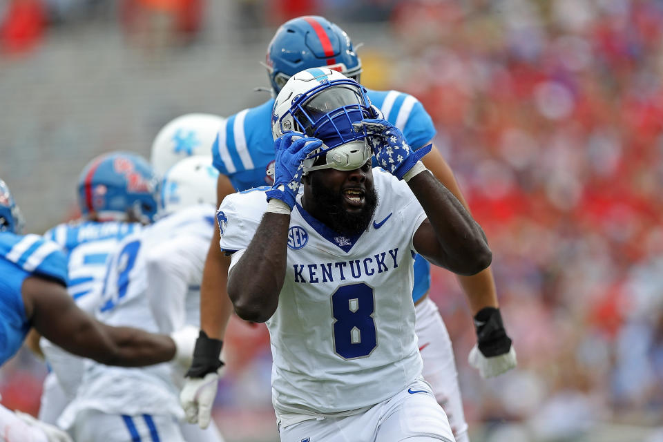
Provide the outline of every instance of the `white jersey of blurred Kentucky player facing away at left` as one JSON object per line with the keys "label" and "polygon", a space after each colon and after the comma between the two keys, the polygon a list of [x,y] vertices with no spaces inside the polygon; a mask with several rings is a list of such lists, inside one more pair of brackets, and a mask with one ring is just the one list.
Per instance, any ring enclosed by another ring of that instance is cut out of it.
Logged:
{"label": "white jersey of blurred Kentucky player facing away at left", "polygon": [[[164,332],[162,325],[172,332],[184,323],[200,324],[200,282],[214,224],[213,206],[193,206],[124,238],[108,262],[97,318],[154,333]],[[160,281],[158,292],[151,290],[155,281],[150,280],[150,267],[155,262],[174,269],[168,272],[173,284]],[[86,408],[182,417],[173,368],[170,363],[127,368],[86,361],[77,396],[59,423],[69,427],[75,414]]]}

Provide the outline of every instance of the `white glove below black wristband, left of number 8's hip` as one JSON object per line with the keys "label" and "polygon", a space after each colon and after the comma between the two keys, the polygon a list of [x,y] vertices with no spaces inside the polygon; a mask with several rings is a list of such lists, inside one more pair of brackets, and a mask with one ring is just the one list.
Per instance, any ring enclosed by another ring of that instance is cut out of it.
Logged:
{"label": "white glove below black wristband, left of number 8's hip", "polygon": [[184,388],[180,392],[180,405],[184,408],[184,417],[187,422],[198,422],[202,429],[209,425],[221,371],[222,368],[218,372],[206,374],[204,378],[184,378]]}

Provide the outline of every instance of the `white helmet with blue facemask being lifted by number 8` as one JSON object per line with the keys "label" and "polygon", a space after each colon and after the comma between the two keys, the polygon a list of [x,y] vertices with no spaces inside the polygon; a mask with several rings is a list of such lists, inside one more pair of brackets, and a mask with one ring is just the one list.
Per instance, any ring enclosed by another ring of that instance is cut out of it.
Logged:
{"label": "white helmet with blue facemask being lifted by number 8", "polygon": [[[327,168],[348,171],[372,156],[365,131],[354,131],[352,124],[377,116],[363,86],[336,70],[310,68],[290,77],[278,93],[271,132],[274,140],[289,131],[323,140],[323,146],[305,160],[304,173]],[[322,156],[325,161],[318,160]]]}

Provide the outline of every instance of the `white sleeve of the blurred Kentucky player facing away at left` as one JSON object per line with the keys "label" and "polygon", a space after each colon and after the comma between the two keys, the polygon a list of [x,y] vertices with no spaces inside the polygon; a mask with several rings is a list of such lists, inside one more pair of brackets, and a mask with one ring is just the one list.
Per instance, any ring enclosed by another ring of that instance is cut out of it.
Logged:
{"label": "white sleeve of the blurred Kentucky player facing away at left", "polygon": [[160,332],[169,334],[186,321],[189,285],[200,280],[209,239],[196,235],[177,236],[148,252],[147,299]]}

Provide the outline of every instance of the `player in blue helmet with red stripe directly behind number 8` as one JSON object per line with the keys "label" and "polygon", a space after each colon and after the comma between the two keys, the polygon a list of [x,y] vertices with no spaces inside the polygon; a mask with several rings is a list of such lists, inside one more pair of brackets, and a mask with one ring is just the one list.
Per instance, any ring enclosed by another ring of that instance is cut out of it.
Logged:
{"label": "player in blue helmet with red stripe directly behind number 8", "polygon": [[[298,17],[283,24],[267,48],[267,72],[273,96],[285,82],[300,70],[322,67],[338,70],[359,80],[361,60],[356,55],[352,41],[334,23],[323,17]],[[370,102],[378,108],[391,124],[405,135],[407,143],[415,149],[430,144],[436,131],[430,115],[412,95],[396,90],[367,90]],[[228,117],[220,128],[213,145],[214,165],[220,171],[217,185],[218,202],[236,190],[271,184],[267,170],[273,164],[274,151],[271,137],[271,119],[274,99],[255,108],[244,109]],[[459,201],[468,208],[450,166],[433,146],[422,159],[429,169]],[[380,220],[378,220],[379,222]],[[202,338],[211,338],[204,343],[221,347],[224,327],[231,307],[224,294],[227,284],[229,260],[217,247],[218,236],[213,238],[208,252],[202,285]],[[487,323],[496,315],[497,294],[490,268],[473,276],[458,276],[459,282],[470,299],[470,307],[479,324]],[[438,401],[443,404],[450,417],[454,434],[459,442],[468,442],[468,425],[463,413],[463,403],[459,390],[458,374],[454,353],[447,329],[439,311],[428,298],[430,289],[430,265],[418,256],[414,262],[414,289],[412,298],[416,305],[416,334],[423,357],[423,374],[429,381]],[[480,311],[479,306],[490,305],[490,309]],[[487,350],[485,346],[475,347],[471,352],[471,362],[479,367],[483,358],[511,354],[510,369],[515,366],[515,353],[510,342]],[[203,343],[201,343],[202,345]],[[194,364],[195,365],[195,364]],[[480,368],[481,376],[496,376],[500,372]],[[207,372],[193,370],[193,378],[203,377]],[[203,418],[203,421],[206,421]]]}

